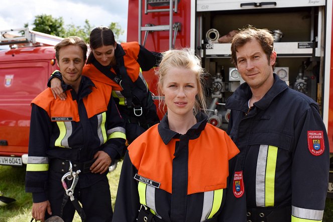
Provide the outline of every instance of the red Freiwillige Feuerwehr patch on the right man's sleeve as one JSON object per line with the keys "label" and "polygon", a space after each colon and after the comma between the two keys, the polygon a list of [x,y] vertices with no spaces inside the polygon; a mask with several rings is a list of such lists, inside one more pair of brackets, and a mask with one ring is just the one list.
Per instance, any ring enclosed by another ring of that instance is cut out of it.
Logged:
{"label": "red Freiwillige Feuerwehr patch on the right man's sleeve", "polygon": [[325,150],[324,132],[323,131],[308,131],[307,132],[307,147],[314,156],[323,154]]}

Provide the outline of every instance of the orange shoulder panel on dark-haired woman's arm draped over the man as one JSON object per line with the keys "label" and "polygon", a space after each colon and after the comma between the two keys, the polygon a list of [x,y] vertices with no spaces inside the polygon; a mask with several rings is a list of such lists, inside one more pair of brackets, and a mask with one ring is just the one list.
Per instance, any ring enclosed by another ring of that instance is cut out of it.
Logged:
{"label": "orange shoulder panel on dark-haired woman's arm draped over the man", "polygon": [[86,64],[83,67],[82,75],[88,76],[91,80],[110,85],[114,90],[121,91],[122,87],[114,80],[101,73],[93,64]]}

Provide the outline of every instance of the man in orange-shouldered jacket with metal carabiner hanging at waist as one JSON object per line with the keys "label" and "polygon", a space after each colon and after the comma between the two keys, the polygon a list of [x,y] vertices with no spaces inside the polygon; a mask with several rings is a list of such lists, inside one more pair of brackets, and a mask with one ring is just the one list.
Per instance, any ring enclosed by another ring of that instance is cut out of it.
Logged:
{"label": "man in orange-shouldered jacket with metal carabiner hanging at waist", "polygon": [[87,52],[84,41],[68,37],[55,49],[69,99],[54,99],[47,88],[32,101],[26,174],[32,216],[44,221],[56,215],[72,221],[77,210],[82,220],[111,221],[106,174],[124,152],[125,123],[112,88],[81,75]]}

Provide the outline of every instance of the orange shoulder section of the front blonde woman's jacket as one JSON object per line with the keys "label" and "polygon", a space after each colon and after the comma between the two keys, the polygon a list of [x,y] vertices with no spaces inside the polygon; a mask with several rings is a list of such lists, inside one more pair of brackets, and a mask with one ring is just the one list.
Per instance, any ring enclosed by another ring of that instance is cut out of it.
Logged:
{"label": "orange shoulder section of the front blonde woman's jacket", "polygon": [[[172,193],[172,160],[178,139],[165,145],[157,125],[150,128],[129,147],[129,155],[140,176],[160,183]],[[223,130],[207,124],[199,138],[189,141],[187,193],[205,192],[227,187],[228,161],[239,153]]]}

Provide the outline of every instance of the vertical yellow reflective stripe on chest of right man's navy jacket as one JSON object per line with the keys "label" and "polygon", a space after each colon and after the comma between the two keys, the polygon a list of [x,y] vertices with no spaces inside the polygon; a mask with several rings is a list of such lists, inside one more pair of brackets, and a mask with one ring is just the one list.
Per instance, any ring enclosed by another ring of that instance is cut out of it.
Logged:
{"label": "vertical yellow reflective stripe on chest of right man's navy jacket", "polygon": [[274,186],[277,150],[277,147],[268,147],[265,177],[265,206],[274,206]]}

